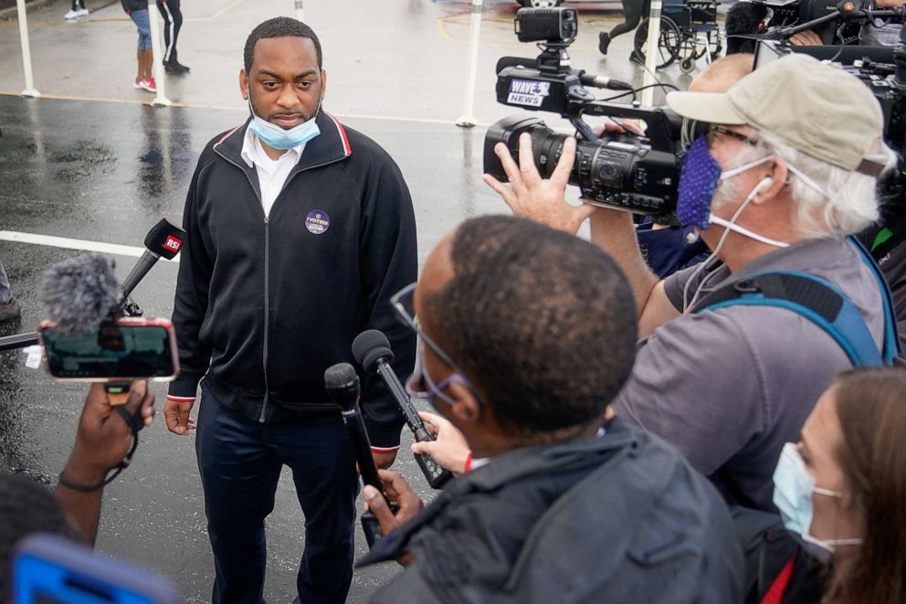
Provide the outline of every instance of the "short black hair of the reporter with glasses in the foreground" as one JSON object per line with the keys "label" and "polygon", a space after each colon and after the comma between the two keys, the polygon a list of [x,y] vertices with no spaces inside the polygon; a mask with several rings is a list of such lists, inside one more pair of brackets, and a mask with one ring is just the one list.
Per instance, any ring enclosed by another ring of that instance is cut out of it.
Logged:
{"label": "short black hair of the reporter with glasses in the foreground", "polygon": [[636,354],[626,277],[602,249],[516,217],[473,218],[428,292],[438,344],[514,435],[600,419]]}

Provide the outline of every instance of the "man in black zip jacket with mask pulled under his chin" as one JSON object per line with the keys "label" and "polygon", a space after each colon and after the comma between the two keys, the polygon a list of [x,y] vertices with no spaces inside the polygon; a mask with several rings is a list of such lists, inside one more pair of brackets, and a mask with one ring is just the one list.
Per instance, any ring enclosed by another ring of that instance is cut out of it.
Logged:
{"label": "man in black zip jacket with mask pulled under his chin", "polygon": [[[184,212],[174,302],[182,372],[164,415],[175,434],[201,382],[195,450],[214,549],[215,602],[262,599],[264,519],[284,464],[306,519],[302,602],[342,602],[352,579],[357,475],[324,369],[352,360],[365,329],[411,373],[415,338],[390,295],[416,278],[412,202],[376,143],[321,111],[326,73],[311,28],[285,17],[248,37],[240,90],[251,119],[202,153]],[[365,378],[378,465],[393,462],[402,416]]]}

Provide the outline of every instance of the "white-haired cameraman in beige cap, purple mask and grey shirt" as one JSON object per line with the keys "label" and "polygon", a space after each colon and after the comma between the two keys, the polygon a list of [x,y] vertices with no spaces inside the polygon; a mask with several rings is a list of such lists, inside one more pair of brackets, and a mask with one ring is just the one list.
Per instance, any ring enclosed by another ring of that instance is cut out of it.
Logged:
{"label": "white-haired cameraman in beige cap, purple mask and grey shirt", "polygon": [[[723,94],[667,98],[683,117],[711,122],[683,166],[678,216],[701,229],[722,264],[658,281],[638,253],[632,217],[592,215],[592,239],[627,273],[640,317],[637,363],[615,408],[677,446],[731,502],[773,511],[781,448],[851,362],[823,329],[786,308],[693,311],[725,286],[744,289],[757,273],[799,271],[840,291],[880,346],[882,292],[845,237],[878,217],[877,176],[894,156],[881,142],[880,107],[868,88],[814,58],[780,58]],[[521,159],[529,145],[521,140]],[[560,174],[573,159],[574,143],[567,145]],[[517,214],[577,212],[564,202],[565,177],[557,187],[531,159],[517,167],[500,145],[498,155],[512,185],[504,200]]]}

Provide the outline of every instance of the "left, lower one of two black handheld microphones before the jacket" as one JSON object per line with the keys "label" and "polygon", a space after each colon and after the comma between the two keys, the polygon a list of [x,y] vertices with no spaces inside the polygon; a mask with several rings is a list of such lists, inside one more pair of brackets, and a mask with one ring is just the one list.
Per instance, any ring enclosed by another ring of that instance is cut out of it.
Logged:
{"label": "left, lower one of two black handheld microphones before the jacket", "polygon": [[[362,412],[359,410],[359,376],[355,374],[355,369],[349,363],[337,363],[328,367],[324,372],[324,387],[327,388],[327,394],[333,403],[340,408],[342,422],[349,432],[349,440],[353,443],[355,461],[358,461],[362,482],[372,485],[383,494],[384,486],[377,473],[377,465],[371,454],[371,441],[368,440],[368,431],[365,429]],[[387,503],[391,510],[395,510],[395,505]],[[381,525],[371,512],[362,514],[362,532],[369,549],[374,546],[375,542],[384,538]]]}

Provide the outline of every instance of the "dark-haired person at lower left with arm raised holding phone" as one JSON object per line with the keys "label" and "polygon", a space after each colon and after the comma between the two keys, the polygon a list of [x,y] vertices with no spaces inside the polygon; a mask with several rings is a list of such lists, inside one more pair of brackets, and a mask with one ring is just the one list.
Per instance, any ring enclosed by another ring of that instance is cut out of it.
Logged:
{"label": "dark-haired person at lower left with arm raised holding phone", "polygon": [[60,473],[56,500],[26,476],[0,474],[0,601],[8,588],[9,556],[23,537],[51,532],[94,545],[102,483],[129,452],[133,429],[151,425],[153,405],[154,397],[143,381],[132,384],[124,414],[111,406],[102,384],[92,384],[72,452]]}

